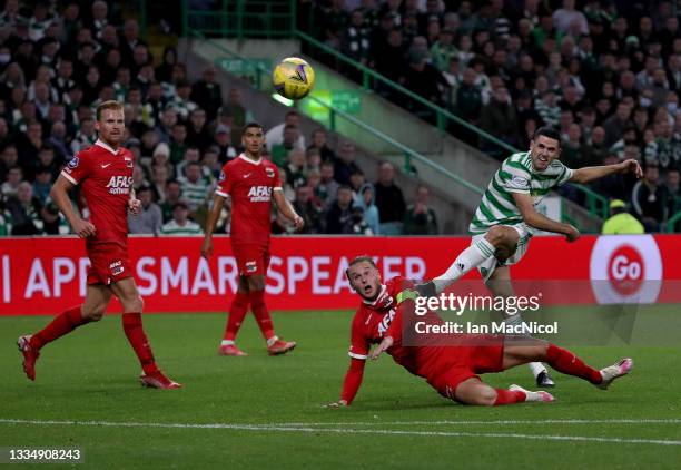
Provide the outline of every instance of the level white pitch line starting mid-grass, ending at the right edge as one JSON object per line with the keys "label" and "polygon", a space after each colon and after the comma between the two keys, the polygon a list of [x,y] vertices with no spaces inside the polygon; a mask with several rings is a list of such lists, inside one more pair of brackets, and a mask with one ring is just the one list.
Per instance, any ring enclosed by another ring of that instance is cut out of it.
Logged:
{"label": "level white pitch line starting mid-grass, ending at the right edge", "polygon": [[477,425],[477,424],[681,424],[681,419],[613,419],[613,420],[499,420],[499,421],[362,421],[362,422],[294,422],[272,425]]}

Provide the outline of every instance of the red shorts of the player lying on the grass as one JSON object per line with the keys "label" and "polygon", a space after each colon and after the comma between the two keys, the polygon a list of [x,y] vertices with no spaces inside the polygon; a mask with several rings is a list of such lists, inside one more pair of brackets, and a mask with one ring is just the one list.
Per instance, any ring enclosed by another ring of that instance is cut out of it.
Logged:
{"label": "red shorts of the player lying on the grass", "polygon": [[504,360],[503,335],[487,335],[485,344],[457,346],[447,351],[447,366],[427,378],[428,384],[444,398],[455,400],[454,393],[461,382],[490,372],[502,372]]}

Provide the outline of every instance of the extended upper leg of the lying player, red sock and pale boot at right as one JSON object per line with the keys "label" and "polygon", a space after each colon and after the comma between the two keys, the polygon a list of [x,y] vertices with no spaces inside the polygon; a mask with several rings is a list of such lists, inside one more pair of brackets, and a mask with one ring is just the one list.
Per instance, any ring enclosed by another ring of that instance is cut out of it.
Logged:
{"label": "extended upper leg of the lying player, red sock and pale boot at right", "polygon": [[633,360],[626,358],[599,371],[573,352],[542,340],[527,339],[522,340],[522,344],[504,346],[504,370],[532,361],[545,362],[559,372],[579,376],[603,390],[633,369]]}

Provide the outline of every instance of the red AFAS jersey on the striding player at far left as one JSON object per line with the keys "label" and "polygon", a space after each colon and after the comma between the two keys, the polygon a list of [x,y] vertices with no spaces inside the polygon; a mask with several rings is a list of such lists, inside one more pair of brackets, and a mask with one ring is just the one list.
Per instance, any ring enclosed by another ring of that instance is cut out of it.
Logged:
{"label": "red AFAS jersey on the striding player at far left", "polygon": [[132,187],[134,156],[127,148],[114,150],[101,140],[79,151],[61,175],[80,185],[96,234],[86,246],[118,243],[127,246],[128,199]]}

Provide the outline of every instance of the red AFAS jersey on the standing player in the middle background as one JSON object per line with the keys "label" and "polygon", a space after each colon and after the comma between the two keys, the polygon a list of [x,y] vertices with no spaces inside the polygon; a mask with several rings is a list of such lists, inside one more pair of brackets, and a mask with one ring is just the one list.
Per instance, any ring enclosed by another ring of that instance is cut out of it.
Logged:
{"label": "red AFAS jersey on the standing player in the middle background", "polygon": [[231,197],[231,244],[269,244],[272,196],[282,190],[278,168],[241,154],[220,173],[216,193]]}

